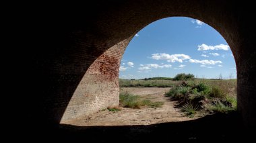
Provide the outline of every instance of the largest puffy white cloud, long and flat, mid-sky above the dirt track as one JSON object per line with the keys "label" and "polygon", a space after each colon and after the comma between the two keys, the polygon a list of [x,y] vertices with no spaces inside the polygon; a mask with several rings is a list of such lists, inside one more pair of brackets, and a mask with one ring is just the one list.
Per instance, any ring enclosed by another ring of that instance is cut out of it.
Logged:
{"label": "largest puffy white cloud, long and flat, mid-sky above the dirt track", "polygon": [[156,53],[152,54],[151,58],[155,60],[167,60],[167,62],[183,62],[183,60],[190,59],[191,57],[186,54],[166,54],[166,53]]}

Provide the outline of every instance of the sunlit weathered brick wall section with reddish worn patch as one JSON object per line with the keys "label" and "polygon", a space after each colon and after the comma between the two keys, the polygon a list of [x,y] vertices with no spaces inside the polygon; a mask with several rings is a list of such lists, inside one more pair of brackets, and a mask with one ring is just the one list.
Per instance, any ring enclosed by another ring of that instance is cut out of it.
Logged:
{"label": "sunlit weathered brick wall section with reddish worn patch", "polygon": [[119,105],[119,66],[130,38],[101,54],[88,68],[73,93],[61,123]]}

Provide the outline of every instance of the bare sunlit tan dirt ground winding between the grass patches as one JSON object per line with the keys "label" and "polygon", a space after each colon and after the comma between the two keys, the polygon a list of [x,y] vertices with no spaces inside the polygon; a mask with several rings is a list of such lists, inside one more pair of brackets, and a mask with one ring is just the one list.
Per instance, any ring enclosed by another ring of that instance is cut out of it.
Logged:
{"label": "bare sunlit tan dirt ground winding between the grass patches", "polygon": [[181,109],[174,108],[177,101],[170,101],[165,97],[170,88],[142,87],[122,88],[121,91],[129,91],[134,95],[140,95],[143,99],[162,101],[164,105],[158,108],[143,107],[142,109],[131,109],[121,107],[121,111],[98,111],[91,115],[79,117],[76,120],[65,122],[75,126],[124,126],[124,125],[150,125],[164,122],[180,122],[195,120],[198,117],[189,118]]}

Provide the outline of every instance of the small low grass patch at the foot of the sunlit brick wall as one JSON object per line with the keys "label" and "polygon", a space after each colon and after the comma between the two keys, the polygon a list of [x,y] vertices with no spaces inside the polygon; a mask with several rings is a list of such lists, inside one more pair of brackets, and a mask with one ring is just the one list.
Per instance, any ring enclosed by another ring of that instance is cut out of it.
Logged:
{"label": "small low grass patch at the foot of the sunlit brick wall", "polygon": [[153,102],[149,99],[141,99],[138,95],[132,95],[128,91],[121,92],[119,95],[119,102],[121,107],[129,108],[141,108],[143,106],[148,107],[162,107],[164,103],[162,102]]}

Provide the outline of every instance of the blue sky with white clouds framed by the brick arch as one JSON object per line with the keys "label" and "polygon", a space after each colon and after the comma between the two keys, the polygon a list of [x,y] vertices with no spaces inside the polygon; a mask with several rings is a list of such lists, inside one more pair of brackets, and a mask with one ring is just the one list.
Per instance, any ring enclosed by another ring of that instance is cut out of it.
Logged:
{"label": "blue sky with white clouds framed by the brick arch", "polygon": [[224,38],[211,26],[188,17],[168,17],[140,30],[125,50],[121,79],[174,77],[191,73],[236,78],[236,65]]}

